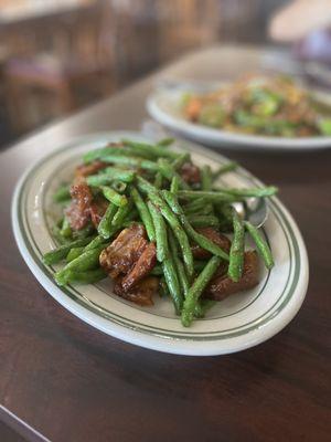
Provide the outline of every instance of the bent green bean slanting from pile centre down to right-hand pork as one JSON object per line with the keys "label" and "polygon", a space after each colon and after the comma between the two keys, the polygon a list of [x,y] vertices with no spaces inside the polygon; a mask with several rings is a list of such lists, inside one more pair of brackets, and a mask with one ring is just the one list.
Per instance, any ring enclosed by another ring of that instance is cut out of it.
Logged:
{"label": "bent green bean slanting from pile centre down to right-hand pork", "polygon": [[185,217],[183,209],[180,207],[175,196],[169,190],[162,190],[162,196],[168,202],[169,207],[171,207],[172,211],[179,215],[181,224],[183,225],[186,234],[196,242],[202,249],[207,250],[212,254],[222,257],[223,260],[228,261],[227,253],[224,252],[218,245],[216,245],[213,241],[209,240],[201,233],[197,233],[189,222],[188,218]]}

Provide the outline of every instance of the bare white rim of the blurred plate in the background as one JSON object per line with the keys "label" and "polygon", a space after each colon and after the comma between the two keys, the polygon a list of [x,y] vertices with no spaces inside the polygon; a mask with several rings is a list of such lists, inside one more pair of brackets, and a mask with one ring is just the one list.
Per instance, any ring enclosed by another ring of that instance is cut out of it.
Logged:
{"label": "bare white rim of the blurred plate in the background", "polygon": [[321,149],[331,147],[331,137],[266,137],[261,135],[235,134],[213,129],[188,122],[180,109],[183,90],[156,90],[147,99],[147,109],[152,118],[171,130],[207,146],[252,149]]}

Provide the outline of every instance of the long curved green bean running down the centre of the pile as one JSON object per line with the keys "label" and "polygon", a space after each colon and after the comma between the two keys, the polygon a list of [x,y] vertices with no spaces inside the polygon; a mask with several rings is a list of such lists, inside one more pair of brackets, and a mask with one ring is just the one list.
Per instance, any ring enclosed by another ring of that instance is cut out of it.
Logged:
{"label": "long curved green bean running down the centre of the pile", "polygon": [[177,217],[172,213],[169,206],[160,197],[158,189],[156,189],[152,185],[150,185],[147,180],[145,180],[141,177],[137,177],[137,181],[138,181],[139,189],[142,192],[148,193],[149,199],[152,201],[153,204],[159,207],[162,215],[166,218],[167,222],[171,227],[171,229],[180,244],[188,275],[190,277],[193,276],[193,273],[194,273],[193,255],[192,255],[192,251],[191,251],[191,246],[190,246],[186,233],[182,229]]}

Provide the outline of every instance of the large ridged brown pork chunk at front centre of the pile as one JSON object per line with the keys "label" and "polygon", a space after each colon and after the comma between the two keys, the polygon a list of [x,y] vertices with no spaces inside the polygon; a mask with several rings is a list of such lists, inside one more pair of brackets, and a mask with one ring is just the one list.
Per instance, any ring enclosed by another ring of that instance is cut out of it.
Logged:
{"label": "large ridged brown pork chunk at front centre of the pile", "polygon": [[148,245],[143,225],[134,223],[100,254],[100,265],[113,277],[127,275]]}

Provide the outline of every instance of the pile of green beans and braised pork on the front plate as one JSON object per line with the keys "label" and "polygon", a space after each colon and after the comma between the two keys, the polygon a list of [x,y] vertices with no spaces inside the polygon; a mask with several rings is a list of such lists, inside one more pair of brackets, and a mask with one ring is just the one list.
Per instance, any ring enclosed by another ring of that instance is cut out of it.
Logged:
{"label": "pile of green beans and braised pork on the front plate", "polygon": [[[60,286],[110,277],[116,295],[140,306],[169,298],[188,327],[216,302],[256,286],[260,262],[273,267],[268,244],[234,203],[277,189],[220,187],[235,162],[200,168],[171,144],[124,139],[85,154],[73,181],[54,193],[63,217],[44,263],[63,263]],[[246,234],[256,250],[246,250]]]}

